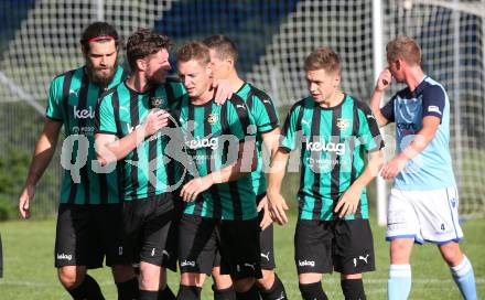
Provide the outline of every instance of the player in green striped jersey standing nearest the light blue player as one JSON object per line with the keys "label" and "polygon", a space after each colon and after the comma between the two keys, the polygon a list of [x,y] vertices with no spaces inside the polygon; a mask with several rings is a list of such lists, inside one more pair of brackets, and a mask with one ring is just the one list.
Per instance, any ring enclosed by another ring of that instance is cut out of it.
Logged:
{"label": "player in green striped jersey standing nearest the light blue player", "polygon": [[345,299],[365,299],[362,272],[375,269],[366,185],[382,163],[384,143],[369,107],[341,90],[335,52],[317,49],[304,66],[311,95],[293,105],[282,128],[269,174],[270,212],[288,222],[280,188],[289,152],[301,147],[294,247],[302,298],[327,299],[320,281],[335,270]]}

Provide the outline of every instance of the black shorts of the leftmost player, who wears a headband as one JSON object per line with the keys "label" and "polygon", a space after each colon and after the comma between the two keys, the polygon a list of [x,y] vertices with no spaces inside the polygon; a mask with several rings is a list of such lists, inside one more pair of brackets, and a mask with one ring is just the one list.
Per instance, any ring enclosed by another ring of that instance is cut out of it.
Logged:
{"label": "black shorts of the leftmost player, who wears a headband", "polygon": [[61,204],[55,236],[55,267],[129,264],[122,256],[121,204]]}

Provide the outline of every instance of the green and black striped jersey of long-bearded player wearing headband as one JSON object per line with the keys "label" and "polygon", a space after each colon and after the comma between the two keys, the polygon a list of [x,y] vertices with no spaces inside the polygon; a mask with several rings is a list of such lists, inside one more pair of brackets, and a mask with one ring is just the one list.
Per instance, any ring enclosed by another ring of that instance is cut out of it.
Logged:
{"label": "green and black striped jersey of long-bearded player wearing headband", "polygon": [[[118,66],[107,88],[122,82],[123,68]],[[61,185],[61,203],[119,203],[116,172],[97,173],[94,147],[95,109],[103,88],[89,82],[85,67],[55,77],[48,89],[46,117],[64,125],[66,140],[63,158],[67,158]],[[67,153],[66,151],[69,151]]]}

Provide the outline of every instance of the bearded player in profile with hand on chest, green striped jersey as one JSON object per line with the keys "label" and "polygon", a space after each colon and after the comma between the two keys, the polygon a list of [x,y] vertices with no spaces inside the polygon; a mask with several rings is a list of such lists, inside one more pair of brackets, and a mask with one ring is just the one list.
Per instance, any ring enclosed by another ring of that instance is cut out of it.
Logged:
{"label": "bearded player in profile with hand on chest, green striped jersey", "polygon": [[104,165],[120,164],[123,255],[140,261],[140,300],[174,299],[165,279],[165,268],[176,267],[169,245],[175,216],[171,163],[163,154],[168,139],[158,133],[169,125],[171,93],[182,93],[176,90],[181,85],[165,81],[170,46],[166,36],[150,30],[131,34],[131,75],[105,95],[96,111],[98,158]]}

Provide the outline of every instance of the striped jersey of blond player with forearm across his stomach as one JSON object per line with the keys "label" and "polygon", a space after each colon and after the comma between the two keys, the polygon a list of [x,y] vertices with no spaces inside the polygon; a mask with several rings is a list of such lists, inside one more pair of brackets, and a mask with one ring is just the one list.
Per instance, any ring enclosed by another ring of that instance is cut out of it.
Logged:
{"label": "striped jersey of blond player with forearm across his stomach", "polygon": [[[239,143],[245,141],[251,125],[247,106],[237,95],[222,106],[214,100],[196,106],[184,95],[176,101],[174,116],[183,133],[185,151],[195,167],[190,168],[187,181],[236,161]],[[219,219],[255,218],[256,193],[250,175],[212,185],[194,202],[187,203],[184,213]]]}

